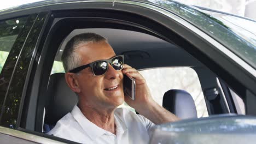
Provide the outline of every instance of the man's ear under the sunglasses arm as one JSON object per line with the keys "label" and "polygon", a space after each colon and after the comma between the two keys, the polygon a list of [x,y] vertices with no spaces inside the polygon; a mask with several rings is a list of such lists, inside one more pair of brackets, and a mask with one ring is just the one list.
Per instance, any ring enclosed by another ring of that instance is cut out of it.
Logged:
{"label": "man's ear under the sunglasses arm", "polygon": [[79,87],[78,81],[77,81],[77,75],[75,75],[73,73],[66,73],[65,79],[66,79],[68,86],[72,89],[72,91],[74,91],[75,93],[80,92],[80,87]]}

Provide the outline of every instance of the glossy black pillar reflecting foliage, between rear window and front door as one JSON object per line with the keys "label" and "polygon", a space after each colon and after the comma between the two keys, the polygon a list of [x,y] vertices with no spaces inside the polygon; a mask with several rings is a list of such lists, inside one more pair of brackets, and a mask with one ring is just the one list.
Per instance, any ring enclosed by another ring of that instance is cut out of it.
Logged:
{"label": "glossy black pillar reflecting foliage, between rear window and front door", "polygon": [[4,127],[18,128],[20,125],[20,111],[24,106],[27,83],[31,76],[31,62],[35,58],[36,44],[47,14],[43,12],[25,18],[26,24],[21,26],[1,71],[1,93],[5,93],[0,99],[1,102],[3,100],[1,125]]}

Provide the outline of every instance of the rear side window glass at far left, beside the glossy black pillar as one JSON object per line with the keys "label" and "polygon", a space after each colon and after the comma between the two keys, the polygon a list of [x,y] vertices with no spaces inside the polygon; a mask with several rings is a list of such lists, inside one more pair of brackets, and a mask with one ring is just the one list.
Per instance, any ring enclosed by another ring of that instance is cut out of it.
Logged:
{"label": "rear side window glass at far left, beside the glossy black pillar", "polygon": [[[18,56],[24,40],[21,37],[19,39],[17,38],[21,32],[21,29],[24,28],[26,21],[27,21],[27,17],[19,17],[15,19],[0,21],[0,73],[1,73],[0,74],[0,86],[1,86],[0,87],[0,116],[1,116],[0,123],[1,125],[4,125],[2,123],[2,118],[4,117],[5,112],[11,111],[12,113],[14,113],[14,111],[12,111],[13,109],[9,107],[6,109],[7,111],[4,111],[4,106],[7,101],[5,94],[7,92],[7,88],[9,86],[9,82],[11,79],[11,73],[13,72],[16,61],[18,60]],[[4,101],[5,101],[5,104],[4,104]],[[16,101],[14,101],[14,103],[16,103]],[[10,120],[10,121],[11,123],[16,123],[15,120]],[[10,127],[13,128],[13,124],[10,124]]]}

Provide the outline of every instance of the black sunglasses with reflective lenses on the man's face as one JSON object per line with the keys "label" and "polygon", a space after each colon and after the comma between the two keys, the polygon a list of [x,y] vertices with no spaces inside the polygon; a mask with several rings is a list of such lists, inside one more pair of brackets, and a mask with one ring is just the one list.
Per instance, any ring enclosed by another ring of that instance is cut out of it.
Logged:
{"label": "black sunglasses with reflective lenses on the man's face", "polygon": [[91,67],[92,73],[94,75],[103,75],[108,70],[108,63],[110,63],[110,65],[112,65],[115,70],[121,70],[124,68],[124,55],[115,56],[110,59],[102,59],[86,65],[82,65],[80,67],[69,70],[69,73],[78,73],[85,68]]}

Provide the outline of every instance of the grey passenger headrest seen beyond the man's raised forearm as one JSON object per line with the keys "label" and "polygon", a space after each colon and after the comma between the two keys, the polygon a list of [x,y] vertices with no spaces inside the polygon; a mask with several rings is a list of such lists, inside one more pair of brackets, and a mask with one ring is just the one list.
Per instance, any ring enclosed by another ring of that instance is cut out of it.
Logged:
{"label": "grey passenger headrest seen beyond the man's raised forearm", "polygon": [[171,89],[164,94],[162,106],[181,119],[197,118],[196,106],[191,95],[180,89]]}

